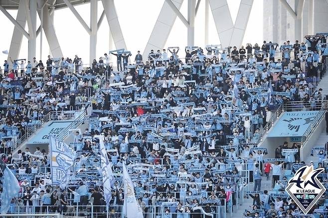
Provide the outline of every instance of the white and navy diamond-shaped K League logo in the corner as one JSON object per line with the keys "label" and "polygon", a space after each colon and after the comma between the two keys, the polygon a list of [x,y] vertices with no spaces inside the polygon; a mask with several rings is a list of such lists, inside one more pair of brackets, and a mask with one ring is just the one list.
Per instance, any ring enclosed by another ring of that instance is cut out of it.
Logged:
{"label": "white and navy diamond-shaped K League logo in the corner", "polygon": [[318,174],[324,170],[324,168],[314,170],[313,166],[304,166],[288,182],[286,191],[304,214],[308,214],[326,192],[325,187],[317,178]]}

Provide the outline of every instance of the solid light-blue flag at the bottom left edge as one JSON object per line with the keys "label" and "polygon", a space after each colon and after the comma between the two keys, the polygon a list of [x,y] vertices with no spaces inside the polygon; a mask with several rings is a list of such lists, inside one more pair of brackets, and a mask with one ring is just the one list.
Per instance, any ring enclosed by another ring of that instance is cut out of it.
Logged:
{"label": "solid light-blue flag at the bottom left edge", "polygon": [[2,193],[1,193],[1,214],[8,212],[10,201],[18,195],[20,190],[19,183],[11,170],[0,159],[0,169],[3,175]]}

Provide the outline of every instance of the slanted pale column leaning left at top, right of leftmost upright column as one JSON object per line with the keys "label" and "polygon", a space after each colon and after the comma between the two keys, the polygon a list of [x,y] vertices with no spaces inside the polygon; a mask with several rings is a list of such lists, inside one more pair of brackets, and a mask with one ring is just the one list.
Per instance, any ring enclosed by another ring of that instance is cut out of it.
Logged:
{"label": "slanted pale column leaning left at top, right of leftmost upright column", "polygon": [[[37,0],[37,3],[39,6],[44,4],[44,0]],[[53,14],[50,15],[50,12],[46,6],[43,7],[42,9],[43,13],[43,31],[44,35],[47,38],[50,52],[54,58],[61,58],[63,57],[63,53],[60,49],[60,45],[57,39],[57,35],[55,32],[55,27],[53,25]],[[38,10],[38,14],[41,18],[41,10]]]}

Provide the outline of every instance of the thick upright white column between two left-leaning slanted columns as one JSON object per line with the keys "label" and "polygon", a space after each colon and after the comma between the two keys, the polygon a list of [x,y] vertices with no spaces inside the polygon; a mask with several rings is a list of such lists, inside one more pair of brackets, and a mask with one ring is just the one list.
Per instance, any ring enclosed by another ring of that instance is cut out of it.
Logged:
{"label": "thick upright white column between two left-leaning slanted columns", "polygon": [[97,31],[98,31],[98,0],[90,0],[90,64],[96,58]]}

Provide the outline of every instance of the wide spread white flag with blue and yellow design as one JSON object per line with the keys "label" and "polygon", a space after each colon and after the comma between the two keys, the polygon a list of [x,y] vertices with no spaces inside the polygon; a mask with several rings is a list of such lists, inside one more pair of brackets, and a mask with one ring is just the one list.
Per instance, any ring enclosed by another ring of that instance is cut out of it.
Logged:
{"label": "wide spread white flag with blue and yellow design", "polygon": [[58,138],[49,135],[49,140],[52,185],[59,185],[61,189],[65,189],[69,182],[76,152]]}

